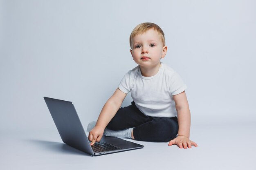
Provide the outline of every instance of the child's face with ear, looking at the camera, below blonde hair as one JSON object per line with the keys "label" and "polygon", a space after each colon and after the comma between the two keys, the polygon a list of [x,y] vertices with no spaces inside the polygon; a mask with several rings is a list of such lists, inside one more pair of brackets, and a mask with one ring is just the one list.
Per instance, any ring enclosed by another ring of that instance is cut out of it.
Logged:
{"label": "child's face with ear, looking at the camera, below blonde hair", "polygon": [[133,60],[140,66],[157,66],[160,59],[166,55],[167,46],[163,46],[162,39],[154,29],[132,38],[130,50]]}

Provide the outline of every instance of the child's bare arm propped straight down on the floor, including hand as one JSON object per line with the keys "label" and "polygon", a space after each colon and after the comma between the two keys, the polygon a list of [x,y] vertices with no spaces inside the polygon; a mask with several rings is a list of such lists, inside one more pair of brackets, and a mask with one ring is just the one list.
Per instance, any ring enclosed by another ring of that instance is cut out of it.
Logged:
{"label": "child's bare arm propped straight down on the floor, including hand", "polygon": [[178,136],[171,140],[168,146],[176,144],[180,148],[191,148],[192,146],[197,146],[197,144],[191,140],[189,140],[189,131],[190,131],[190,110],[189,103],[186,98],[185,91],[178,94],[173,95],[173,99],[175,101],[175,107],[177,110],[179,131]]}

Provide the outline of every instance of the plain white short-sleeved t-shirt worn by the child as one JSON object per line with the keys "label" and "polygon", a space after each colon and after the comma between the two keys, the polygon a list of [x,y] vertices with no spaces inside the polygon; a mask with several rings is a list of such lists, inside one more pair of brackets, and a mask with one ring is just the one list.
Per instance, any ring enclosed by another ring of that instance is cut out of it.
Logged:
{"label": "plain white short-sleeved t-shirt worn by the child", "polygon": [[173,95],[182,93],[187,88],[182,78],[173,68],[161,63],[156,75],[144,77],[137,66],[124,75],[118,88],[131,92],[137,108],[151,117],[175,117],[177,111]]}

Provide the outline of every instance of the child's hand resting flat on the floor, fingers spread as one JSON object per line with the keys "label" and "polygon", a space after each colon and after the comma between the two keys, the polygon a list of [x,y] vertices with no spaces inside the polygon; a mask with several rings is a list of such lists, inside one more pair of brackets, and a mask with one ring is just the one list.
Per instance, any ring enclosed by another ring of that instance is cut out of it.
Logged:
{"label": "child's hand resting flat on the floor, fingers spread", "polygon": [[198,144],[189,140],[189,138],[185,136],[177,136],[175,139],[169,142],[168,146],[172,146],[173,144],[179,146],[179,148],[184,148],[184,149],[191,148],[191,146],[195,146],[195,147],[198,146]]}

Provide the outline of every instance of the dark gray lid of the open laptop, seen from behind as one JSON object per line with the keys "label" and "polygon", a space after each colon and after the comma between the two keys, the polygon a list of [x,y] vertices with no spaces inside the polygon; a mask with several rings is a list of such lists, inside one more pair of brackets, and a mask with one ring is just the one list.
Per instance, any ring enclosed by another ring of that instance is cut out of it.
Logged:
{"label": "dark gray lid of the open laptop, seen from behind", "polygon": [[44,97],[44,99],[62,141],[69,146],[94,155],[73,103],[49,97]]}

